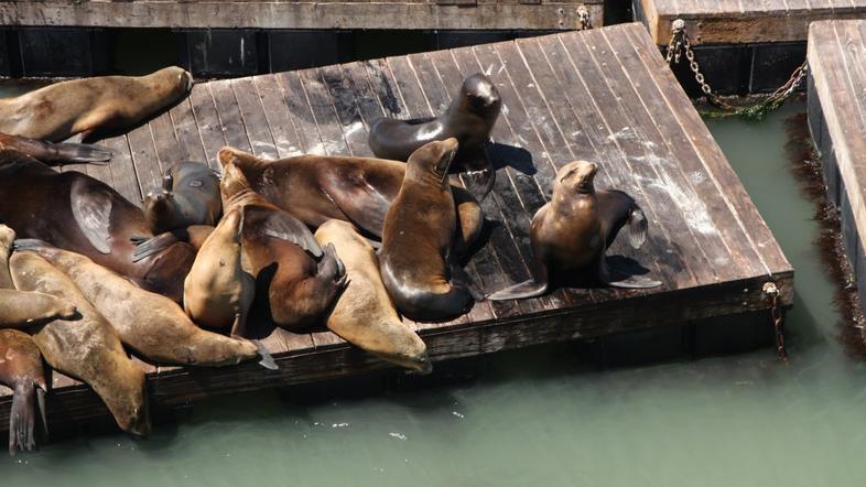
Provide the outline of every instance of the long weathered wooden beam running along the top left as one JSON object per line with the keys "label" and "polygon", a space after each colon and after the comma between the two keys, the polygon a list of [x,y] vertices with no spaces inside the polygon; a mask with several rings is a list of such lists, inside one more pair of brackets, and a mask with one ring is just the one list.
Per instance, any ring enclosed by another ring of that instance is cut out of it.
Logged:
{"label": "long weathered wooden beam running along the top left", "polygon": [[603,0],[13,0],[0,23],[178,29],[576,29],[602,25]]}

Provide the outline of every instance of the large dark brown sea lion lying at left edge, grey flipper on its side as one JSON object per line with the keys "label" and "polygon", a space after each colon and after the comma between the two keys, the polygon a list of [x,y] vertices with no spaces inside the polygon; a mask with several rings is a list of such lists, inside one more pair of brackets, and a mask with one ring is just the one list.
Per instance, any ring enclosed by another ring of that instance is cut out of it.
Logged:
{"label": "large dark brown sea lion lying at left edge, grey flipper on its side", "polygon": [[141,209],[86,174],[57,173],[33,158],[0,150],[0,221],[19,238],[36,238],[83,253],[142,288],[183,299],[195,260],[187,244],[171,242],[133,261],[133,240],[153,237]]}

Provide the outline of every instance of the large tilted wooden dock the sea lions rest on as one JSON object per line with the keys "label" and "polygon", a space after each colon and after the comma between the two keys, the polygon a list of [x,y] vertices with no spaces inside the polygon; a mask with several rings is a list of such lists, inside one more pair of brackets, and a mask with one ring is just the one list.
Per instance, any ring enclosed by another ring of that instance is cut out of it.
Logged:
{"label": "large tilted wooden dock the sea lions rest on", "polygon": [[[497,225],[467,268],[483,290],[528,278],[529,221],[549,199],[556,169],[575,159],[599,162],[597,186],[625,190],[645,209],[643,248],[634,251],[619,239],[608,255],[637,260],[663,285],[560,289],[531,300],[483,301],[451,323],[408,322],[434,362],[762,313],[771,306],[767,282],[791,305],[791,264],[640,24],[198,84],[166,113],[104,141],[116,151],[110,165],[64,170],[86,172],[138,202],[178,161],[216,167],[226,144],[267,158],[370,155],[370,120],[439,113],[476,72],[489,74],[505,101],[491,149],[504,167],[483,202]],[[769,314],[759,326],[771,326]],[[142,362],[152,408],[388,367],[328,332],[275,329],[264,343],[277,371]],[[53,386],[52,421],[106,414],[86,386],[57,374]],[[0,428],[10,402],[0,398]]]}

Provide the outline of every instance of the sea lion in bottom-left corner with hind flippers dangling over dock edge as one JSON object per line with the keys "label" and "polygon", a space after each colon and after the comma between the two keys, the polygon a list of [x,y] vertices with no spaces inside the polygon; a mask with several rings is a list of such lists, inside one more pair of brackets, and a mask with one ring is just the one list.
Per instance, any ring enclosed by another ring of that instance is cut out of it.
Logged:
{"label": "sea lion in bottom-left corner with hind flippers dangling over dock edge", "polygon": [[12,389],[12,410],[9,413],[9,454],[30,451],[36,446],[34,426],[36,405],[42,425],[45,419],[45,370],[42,354],[33,338],[18,329],[0,329],[0,383]]}

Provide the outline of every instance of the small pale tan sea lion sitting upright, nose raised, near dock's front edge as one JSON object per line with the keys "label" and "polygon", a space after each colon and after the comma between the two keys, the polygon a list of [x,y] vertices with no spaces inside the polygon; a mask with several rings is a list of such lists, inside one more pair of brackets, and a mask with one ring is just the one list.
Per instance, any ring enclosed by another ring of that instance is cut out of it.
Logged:
{"label": "small pale tan sea lion sitting upright, nose raised, near dock's front edge", "polygon": [[243,336],[256,280],[241,267],[242,213],[232,209],[219,221],[195,257],[183,284],[183,307],[199,325],[231,327]]}

